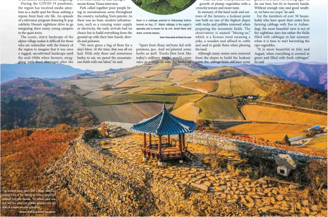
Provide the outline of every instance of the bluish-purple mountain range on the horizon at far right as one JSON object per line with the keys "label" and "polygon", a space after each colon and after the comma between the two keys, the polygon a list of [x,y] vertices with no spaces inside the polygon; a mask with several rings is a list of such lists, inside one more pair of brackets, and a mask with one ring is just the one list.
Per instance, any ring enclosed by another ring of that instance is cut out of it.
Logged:
{"label": "bluish-purple mountain range on the horizon at far right", "polygon": [[279,65],[243,64],[235,67],[249,74],[275,75],[292,82],[327,90],[327,64],[289,62]]}

